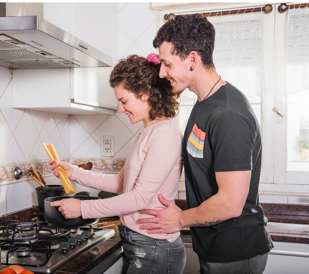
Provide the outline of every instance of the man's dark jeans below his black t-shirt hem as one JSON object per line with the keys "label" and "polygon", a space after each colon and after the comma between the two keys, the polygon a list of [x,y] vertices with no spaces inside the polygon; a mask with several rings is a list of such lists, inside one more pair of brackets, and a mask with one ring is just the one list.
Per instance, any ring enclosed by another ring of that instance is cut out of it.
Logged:
{"label": "man's dark jeans below his black t-shirt hem", "polygon": [[268,253],[256,257],[231,262],[207,263],[199,259],[200,274],[262,274],[267,263]]}

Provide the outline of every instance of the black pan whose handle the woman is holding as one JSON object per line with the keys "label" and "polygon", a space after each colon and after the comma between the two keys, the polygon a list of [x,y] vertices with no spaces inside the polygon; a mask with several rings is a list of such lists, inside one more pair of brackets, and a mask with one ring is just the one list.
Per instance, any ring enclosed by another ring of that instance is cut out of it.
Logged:
{"label": "black pan whose handle the woman is holding", "polygon": [[48,224],[55,227],[63,228],[77,228],[81,226],[90,226],[99,221],[99,219],[83,219],[81,216],[78,218],[66,219],[62,212],[58,210],[59,206],[50,206],[54,201],[60,201],[62,199],[78,199],[78,200],[97,200],[99,197],[91,196],[60,196],[46,198],[44,201],[44,216]]}

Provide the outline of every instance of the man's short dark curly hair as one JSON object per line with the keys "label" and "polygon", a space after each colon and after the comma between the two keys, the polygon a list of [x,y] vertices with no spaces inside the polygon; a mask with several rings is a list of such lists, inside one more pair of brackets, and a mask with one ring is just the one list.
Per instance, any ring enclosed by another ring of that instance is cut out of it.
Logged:
{"label": "man's short dark curly hair", "polygon": [[154,48],[164,41],[173,44],[171,54],[178,55],[181,60],[185,60],[191,51],[196,51],[206,69],[214,67],[215,28],[201,14],[176,15],[166,22],[154,38]]}

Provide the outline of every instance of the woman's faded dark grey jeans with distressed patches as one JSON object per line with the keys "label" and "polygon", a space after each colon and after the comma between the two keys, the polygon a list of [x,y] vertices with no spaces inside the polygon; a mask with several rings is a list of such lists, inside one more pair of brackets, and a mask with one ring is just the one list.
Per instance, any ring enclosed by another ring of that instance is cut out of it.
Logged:
{"label": "woman's faded dark grey jeans with distressed patches", "polygon": [[153,239],[122,225],[119,236],[125,254],[123,273],[126,274],[182,274],[186,264],[183,241]]}

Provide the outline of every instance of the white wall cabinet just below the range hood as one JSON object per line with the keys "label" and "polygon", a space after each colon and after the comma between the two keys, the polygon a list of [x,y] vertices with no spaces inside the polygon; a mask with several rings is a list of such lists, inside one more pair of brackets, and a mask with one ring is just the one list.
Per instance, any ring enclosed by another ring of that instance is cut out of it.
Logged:
{"label": "white wall cabinet just below the range hood", "polygon": [[[63,114],[115,114],[107,78],[93,69],[13,69],[12,107]],[[106,87],[109,90],[106,90]],[[113,98],[113,97],[114,98]]]}

